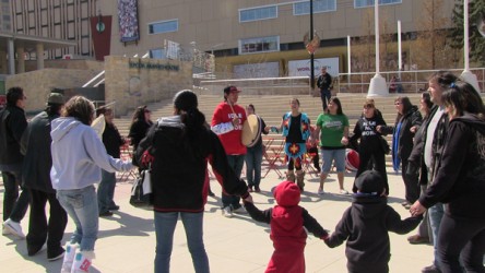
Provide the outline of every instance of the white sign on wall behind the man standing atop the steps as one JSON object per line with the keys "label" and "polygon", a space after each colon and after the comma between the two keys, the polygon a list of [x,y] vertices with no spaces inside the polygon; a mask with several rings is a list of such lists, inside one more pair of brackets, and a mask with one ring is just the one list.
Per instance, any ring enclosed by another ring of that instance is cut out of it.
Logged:
{"label": "white sign on wall behind the man standing atop the steps", "polygon": [[[320,74],[320,69],[327,67],[327,73],[332,76],[339,75],[339,57],[319,58],[314,60],[315,76]],[[289,76],[310,76],[310,59],[288,61]]]}

